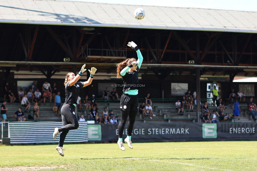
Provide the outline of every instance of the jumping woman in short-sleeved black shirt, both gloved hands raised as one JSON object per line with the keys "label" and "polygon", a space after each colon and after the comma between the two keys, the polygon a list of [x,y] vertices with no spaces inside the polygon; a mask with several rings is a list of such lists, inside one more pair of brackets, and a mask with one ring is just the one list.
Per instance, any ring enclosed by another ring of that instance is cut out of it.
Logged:
{"label": "jumping woman in short-sleeved black shirt, both gloved hands raised", "polygon": [[85,67],[86,64],[82,66],[80,72],[76,76],[73,72],[69,72],[65,77],[65,102],[61,108],[63,127],[55,128],[53,133],[53,139],[56,139],[57,135],[61,132],[59,145],[56,147],[56,150],[61,156],[64,156],[62,147],[69,130],[78,129],[78,119],[75,115],[78,93],[80,92],[81,88],[86,87],[92,83],[94,74],[97,70],[95,67],[92,67],[91,70],[88,70],[90,72],[90,78],[88,78],[88,80],[85,82],[77,82],[80,79],[82,73],[87,71]]}

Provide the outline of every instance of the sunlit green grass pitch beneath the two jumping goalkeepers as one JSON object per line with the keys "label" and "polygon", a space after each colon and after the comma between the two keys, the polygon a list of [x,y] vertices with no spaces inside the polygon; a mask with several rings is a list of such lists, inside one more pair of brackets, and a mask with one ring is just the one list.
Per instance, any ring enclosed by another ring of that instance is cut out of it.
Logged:
{"label": "sunlit green grass pitch beneath the two jumping goalkeepers", "polygon": [[[43,170],[256,170],[256,141],[0,145],[0,170],[6,167],[56,167]],[[10,168],[11,169],[11,168]],[[15,169],[11,169],[15,170]]]}

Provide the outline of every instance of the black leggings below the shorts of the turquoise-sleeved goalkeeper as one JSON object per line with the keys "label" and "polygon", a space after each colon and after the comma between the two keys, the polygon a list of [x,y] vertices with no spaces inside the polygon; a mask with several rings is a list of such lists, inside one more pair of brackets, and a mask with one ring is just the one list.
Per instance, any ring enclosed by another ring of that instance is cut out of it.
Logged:
{"label": "black leggings below the shorts of the turquoise-sleeved goalkeeper", "polygon": [[128,123],[128,135],[131,136],[134,123],[136,120],[137,111],[123,111],[121,110],[121,121],[119,123],[118,132],[119,132],[119,138],[122,138],[122,134],[125,128],[125,124],[127,121],[127,118],[129,117],[129,123]]}

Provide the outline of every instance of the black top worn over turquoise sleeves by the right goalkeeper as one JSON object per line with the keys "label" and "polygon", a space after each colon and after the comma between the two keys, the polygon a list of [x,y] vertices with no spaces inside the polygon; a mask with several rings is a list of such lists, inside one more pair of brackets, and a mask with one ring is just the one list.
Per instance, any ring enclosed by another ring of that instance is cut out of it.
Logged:
{"label": "black top worn over turquoise sleeves by the right goalkeeper", "polygon": [[127,71],[125,76],[121,76],[123,81],[123,86],[124,86],[123,93],[126,92],[127,90],[138,90],[139,88],[138,72],[139,72],[139,67],[137,67],[136,71],[133,71],[133,72]]}

